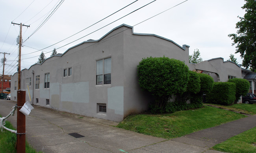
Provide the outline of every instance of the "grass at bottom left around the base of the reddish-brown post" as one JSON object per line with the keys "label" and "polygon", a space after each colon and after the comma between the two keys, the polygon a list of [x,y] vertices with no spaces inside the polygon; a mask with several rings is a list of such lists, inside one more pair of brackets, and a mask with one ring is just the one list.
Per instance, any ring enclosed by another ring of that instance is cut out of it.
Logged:
{"label": "grass at bottom left around the base of the reddish-brown post", "polygon": [[[15,130],[13,125],[8,121],[6,121],[5,127]],[[6,129],[3,129],[2,132],[0,131],[0,153],[16,153],[16,140],[17,136],[15,133],[11,133]],[[26,142],[26,153],[37,153],[28,142]]]}

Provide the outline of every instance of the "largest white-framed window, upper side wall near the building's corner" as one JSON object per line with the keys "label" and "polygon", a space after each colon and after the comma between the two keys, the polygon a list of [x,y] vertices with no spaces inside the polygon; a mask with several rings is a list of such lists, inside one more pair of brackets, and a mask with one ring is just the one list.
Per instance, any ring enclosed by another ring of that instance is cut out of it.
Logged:
{"label": "largest white-framed window, upper side wall near the building's corner", "polygon": [[96,85],[111,84],[111,58],[97,61]]}

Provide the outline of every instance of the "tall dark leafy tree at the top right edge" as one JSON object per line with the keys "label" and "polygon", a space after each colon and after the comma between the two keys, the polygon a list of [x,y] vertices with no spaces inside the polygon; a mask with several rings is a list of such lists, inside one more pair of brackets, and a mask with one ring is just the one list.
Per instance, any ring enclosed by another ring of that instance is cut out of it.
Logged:
{"label": "tall dark leafy tree at the top right edge", "polygon": [[242,65],[251,70],[256,70],[256,0],[245,0],[244,17],[239,17],[236,23],[237,34],[229,34],[232,37],[232,46],[236,44],[236,53],[243,58]]}

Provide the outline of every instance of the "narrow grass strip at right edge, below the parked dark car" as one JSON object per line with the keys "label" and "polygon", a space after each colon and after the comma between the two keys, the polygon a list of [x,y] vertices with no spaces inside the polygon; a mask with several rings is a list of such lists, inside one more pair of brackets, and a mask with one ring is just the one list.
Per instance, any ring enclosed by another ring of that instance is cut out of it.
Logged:
{"label": "narrow grass strip at right edge, below the parked dark car", "polygon": [[230,106],[223,106],[223,105],[217,105],[217,104],[212,104],[212,103],[205,103],[205,105],[215,105],[215,106],[222,107],[225,109],[230,109],[230,110],[238,111],[238,112],[244,112],[246,114],[251,114],[251,115],[256,114],[256,105],[252,105],[252,104],[239,103],[239,104],[233,104]]}

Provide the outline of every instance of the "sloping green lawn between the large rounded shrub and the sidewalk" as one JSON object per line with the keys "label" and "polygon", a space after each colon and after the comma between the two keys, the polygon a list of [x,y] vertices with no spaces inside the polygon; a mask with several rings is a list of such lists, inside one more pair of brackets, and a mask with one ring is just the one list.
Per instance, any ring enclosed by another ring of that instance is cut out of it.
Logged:
{"label": "sloping green lawn between the large rounded shrub and the sidewalk", "polygon": [[236,112],[204,106],[200,109],[178,111],[172,114],[130,115],[117,127],[171,139],[244,117],[246,116]]}

